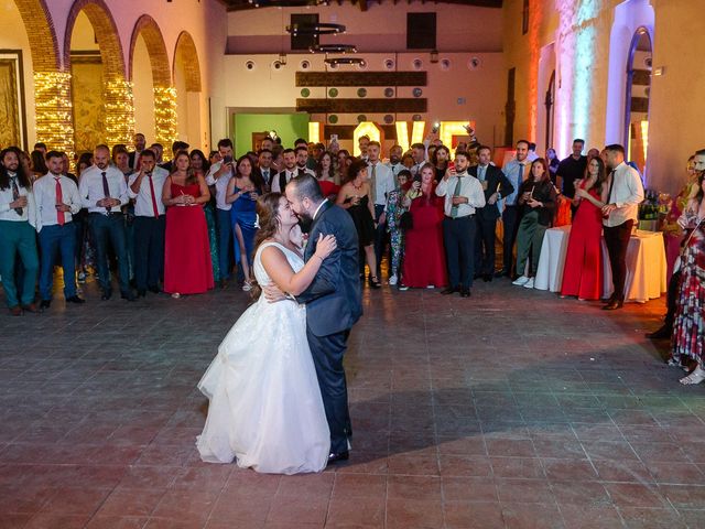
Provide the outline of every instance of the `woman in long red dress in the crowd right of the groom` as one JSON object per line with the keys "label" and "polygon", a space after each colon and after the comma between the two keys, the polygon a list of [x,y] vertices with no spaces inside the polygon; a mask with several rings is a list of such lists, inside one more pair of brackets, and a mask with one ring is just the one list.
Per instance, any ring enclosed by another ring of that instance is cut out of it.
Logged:
{"label": "woman in long red dress in the crowd right of the groom", "polygon": [[432,289],[448,284],[443,248],[443,201],[434,190],[435,168],[426,163],[406,194],[404,207],[413,218],[413,227],[405,234],[402,284],[405,288]]}

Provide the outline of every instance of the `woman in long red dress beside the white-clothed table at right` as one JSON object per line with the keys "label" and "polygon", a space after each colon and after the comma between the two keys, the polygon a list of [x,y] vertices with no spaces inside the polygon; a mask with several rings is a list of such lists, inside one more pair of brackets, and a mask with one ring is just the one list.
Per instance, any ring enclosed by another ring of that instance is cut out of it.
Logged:
{"label": "woman in long red dress beside the white-clothed table at right", "polygon": [[594,158],[587,165],[587,176],[575,186],[577,210],[571,228],[563,269],[561,296],[599,300],[603,290],[603,184],[607,180],[605,162]]}

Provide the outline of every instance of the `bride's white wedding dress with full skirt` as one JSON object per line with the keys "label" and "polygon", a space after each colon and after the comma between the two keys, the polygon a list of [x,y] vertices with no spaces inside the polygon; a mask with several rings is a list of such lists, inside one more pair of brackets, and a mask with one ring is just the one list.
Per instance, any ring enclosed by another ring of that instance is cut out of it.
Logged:
{"label": "bride's white wedding dress with full skirt", "polygon": [[[261,253],[280,248],[296,272],[295,252],[276,242],[260,245],[254,277],[271,282]],[[242,313],[198,382],[210,400],[196,445],[209,463],[231,463],[272,474],[321,472],[330,447],[321,389],[306,338],[306,307],[263,295]]]}

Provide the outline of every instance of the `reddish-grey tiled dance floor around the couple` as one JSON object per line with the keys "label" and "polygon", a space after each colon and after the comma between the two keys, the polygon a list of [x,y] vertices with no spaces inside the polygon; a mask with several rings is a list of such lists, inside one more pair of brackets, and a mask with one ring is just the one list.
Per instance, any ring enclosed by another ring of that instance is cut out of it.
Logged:
{"label": "reddish-grey tiled dance floor around the couple", "polygon": [[351,460],[281,477],[194,447],[195,386],[242,292],[86,291],[0,316],[0,528],[705,527],[705,388],[643,338],[661,301],[366,291]]}

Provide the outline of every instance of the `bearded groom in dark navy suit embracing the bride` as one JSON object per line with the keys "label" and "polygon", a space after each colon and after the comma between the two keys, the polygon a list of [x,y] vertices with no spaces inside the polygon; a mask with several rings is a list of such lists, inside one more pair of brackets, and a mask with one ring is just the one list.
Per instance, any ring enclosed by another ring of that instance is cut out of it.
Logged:
{"label": "bearded groom in dark navy suit embracing the bride", "polygon": [[337,241],[308,289],[296,296],[306,304],[308,346],[330,428],[328,462],[334,463],[348,458],[351,435],[343,357],[350,330],[362,315],[359,244],[350,215],[323,196],[314,176],[295,176],[285,191],[294,213],[311,223],[304,260],[314,256],[319,234],[334,235]]}

